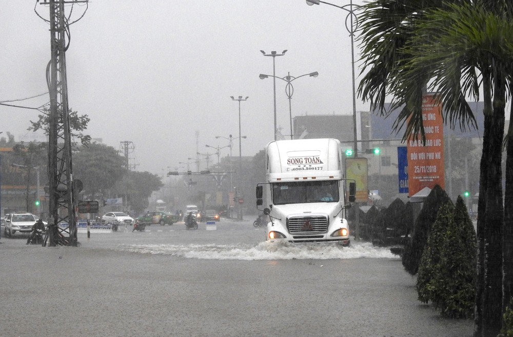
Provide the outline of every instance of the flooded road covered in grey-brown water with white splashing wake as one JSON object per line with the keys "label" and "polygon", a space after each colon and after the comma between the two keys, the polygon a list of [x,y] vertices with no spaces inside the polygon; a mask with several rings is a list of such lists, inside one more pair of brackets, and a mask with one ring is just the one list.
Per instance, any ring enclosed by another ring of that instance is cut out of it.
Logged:
{"label": "flooded road covered in grey-brown water with white splashing wake", "polygon": [[81,230],[78,248],[2,238],[3,307],[49,319],[3,319],[0,336],[472,335],[471,321],[417,301],[415,278],[388,249],[264,236],[252,221],[222,220],[90,239]]}

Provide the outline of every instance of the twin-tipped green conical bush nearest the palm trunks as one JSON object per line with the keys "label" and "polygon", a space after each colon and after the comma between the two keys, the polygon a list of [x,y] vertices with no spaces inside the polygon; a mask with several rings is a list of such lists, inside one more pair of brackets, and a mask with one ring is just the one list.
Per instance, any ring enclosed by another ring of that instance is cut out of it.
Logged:
{"label": "twin-tipped green conical bush nearest the palm trunks", "polygon": [[476,232],[461,196],[440,208],[417,277],[419,300],[449,318],[468,318],[476,295]]}

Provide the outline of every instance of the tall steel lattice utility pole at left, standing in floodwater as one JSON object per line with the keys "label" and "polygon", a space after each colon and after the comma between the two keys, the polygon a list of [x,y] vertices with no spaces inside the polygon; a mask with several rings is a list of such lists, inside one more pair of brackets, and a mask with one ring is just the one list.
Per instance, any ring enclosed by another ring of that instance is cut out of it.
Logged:
{"label": "tall steel lattice utility pole at left, standing in floodwater", "polygon": [[[50,9],[51,60],[47,67],[50,92],[48,131],[48,180],[49,180],[49,246],[76,246],[76,194],[80,184],[73,181],[71,161],[71,131],[69,122],[68,83],[66,78],[66,41],[69,17],[65,4],[87,3],[88,0],[41,0]],[[67,223],[67,228],[59,225]]]}

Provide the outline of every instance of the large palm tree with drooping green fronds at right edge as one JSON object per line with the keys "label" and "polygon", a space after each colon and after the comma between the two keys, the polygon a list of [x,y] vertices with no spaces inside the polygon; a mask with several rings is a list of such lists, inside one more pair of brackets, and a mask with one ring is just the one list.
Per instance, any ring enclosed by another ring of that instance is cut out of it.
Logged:
{"label": "large palm tree with drooping green fronds at right edge", "polygon": [[394,125],[399,130],[406,124],[404,139],[419,132],[424,138],[420,100],[426,89],[437,92],[446,123],[452,128],[459,124],[461,129],[475,123],[465,97],[478,99],[480,86],[483,90],[475,335],[496,336],[502,312],[504,210],[502,132],[494,131],[504,129],[507,84],[513,74],[507,40],[513,33],[511,5],[500,0],[452,4],[385,0],[364,8],[361,41],[366,46],[364,71],[370,70],[359,93],[382,113],[386,113],[386,94],[393,95],[393,108],[404,106]]}

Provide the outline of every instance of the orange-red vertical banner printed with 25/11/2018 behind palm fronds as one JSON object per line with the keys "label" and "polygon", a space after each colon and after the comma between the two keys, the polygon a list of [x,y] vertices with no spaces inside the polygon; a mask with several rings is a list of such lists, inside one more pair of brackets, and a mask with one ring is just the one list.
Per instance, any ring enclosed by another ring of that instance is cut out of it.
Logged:
{"label": "orange-red vertical banner printed with 25/11/2018 behind palm fronds", "polygon": [[426,94],[422,98],[422,123],[426,144],[422,143],[420,134],[410,135],[407,142],[409,196],[424,187],[440,185],[445,188],[442,106],[432,94]]}

